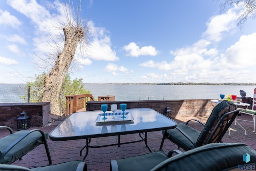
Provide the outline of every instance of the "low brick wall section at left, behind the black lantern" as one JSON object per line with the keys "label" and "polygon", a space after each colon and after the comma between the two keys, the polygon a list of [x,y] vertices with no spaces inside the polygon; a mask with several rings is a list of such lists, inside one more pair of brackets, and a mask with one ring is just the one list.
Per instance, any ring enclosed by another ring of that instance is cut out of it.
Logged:
{"label": "low brick wall section at left, behind the black lantern", "polygon": [[30,116],[30,127],[43,126],[50,121],[50,103],[0,103],[0,125],[17,128],[22,111]]}

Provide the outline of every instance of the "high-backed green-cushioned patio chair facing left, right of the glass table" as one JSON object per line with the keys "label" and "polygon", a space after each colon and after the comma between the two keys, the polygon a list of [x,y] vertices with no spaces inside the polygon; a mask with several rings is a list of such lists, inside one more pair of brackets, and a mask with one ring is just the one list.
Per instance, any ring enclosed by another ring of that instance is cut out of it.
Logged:
{"label": "high-backed green-cushioned patio chair facing left, right of the glass table", "polygon": [[[191,119],[186,124],[178,123],[175,129],[162,131],[164,137],[160,149],[162,149],[165,138],[177,144],[178,147],[181,147],[185,151],[209,143],[219,143],[237,115],[240,114],[239,109],[236,109],[236,105],[224,100],[212,109],[212,113],[205,124],[199,120]],[[202,131],[197,131],[188,126],[190,121],[197,121],[204,125]]]}

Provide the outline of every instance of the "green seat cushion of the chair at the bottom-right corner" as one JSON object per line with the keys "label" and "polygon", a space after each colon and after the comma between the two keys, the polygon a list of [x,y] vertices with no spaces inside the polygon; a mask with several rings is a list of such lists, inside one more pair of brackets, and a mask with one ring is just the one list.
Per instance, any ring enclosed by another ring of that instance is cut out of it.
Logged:
{"label": "green seat cushion of the chair at the bottom-right corner", "polygon": [[[166,159],[168,159],[168,157],[164,151],[159,150],[125,159],[116,159],[116,162],[119,171],[150,171],[153,167]],[[112,167],[110,170],[112,170]]]}

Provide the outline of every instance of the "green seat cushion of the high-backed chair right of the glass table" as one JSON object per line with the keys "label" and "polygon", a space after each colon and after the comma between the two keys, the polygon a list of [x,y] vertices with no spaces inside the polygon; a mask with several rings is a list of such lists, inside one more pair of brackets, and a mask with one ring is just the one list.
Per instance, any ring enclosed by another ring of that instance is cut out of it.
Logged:
{"label": "green seat cushion of the high-backed chair right of the glass table", "polygon": [[[196,143],[198,136],[200,135],[199,131],[184,123],[178,123],[177,127],[182,129],[182,131],[189,135],[193,142]],[[191,143],[187,137],[185,137],[178,129],[175,128],[167,130],[167,139],[182,147],[185,151],[195,148],[193,143]]]}

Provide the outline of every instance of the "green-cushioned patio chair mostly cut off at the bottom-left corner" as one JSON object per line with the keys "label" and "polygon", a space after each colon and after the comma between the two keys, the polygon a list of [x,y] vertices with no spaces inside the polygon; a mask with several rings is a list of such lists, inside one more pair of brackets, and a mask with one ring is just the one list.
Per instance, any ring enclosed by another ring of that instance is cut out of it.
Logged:
{"label": "green-cushioned patio chair mostly cut off at the bottom-left corner", "polygon": [[0,164],[0,171],[87,171],[85,161],[68,161],[56,165],[48,165],[43,167],[26,168],[16,165]]}

